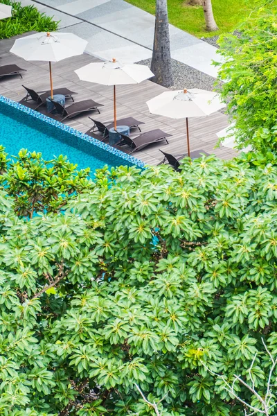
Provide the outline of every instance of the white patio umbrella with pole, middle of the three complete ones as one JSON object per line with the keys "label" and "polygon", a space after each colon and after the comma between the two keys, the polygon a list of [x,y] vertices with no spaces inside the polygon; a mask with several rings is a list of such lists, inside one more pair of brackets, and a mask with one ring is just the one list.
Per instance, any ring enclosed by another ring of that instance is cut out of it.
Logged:
{"label": "white patio umbrella with pole, middle of the three complete ones", "polygon": [[139,84],[154,73],[146,65],[121,64],[115,58],[107,62],[95,62],[76,69],[82,81],[114,86],[114,130],[116,130],[116,85]]}

